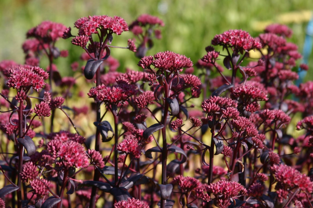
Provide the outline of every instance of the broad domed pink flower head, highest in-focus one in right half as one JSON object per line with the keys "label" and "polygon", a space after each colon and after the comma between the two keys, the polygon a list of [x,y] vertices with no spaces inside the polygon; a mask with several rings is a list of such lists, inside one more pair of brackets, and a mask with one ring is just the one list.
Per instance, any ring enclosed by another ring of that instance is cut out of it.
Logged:
{"label": "broad domed pink flower head, highest in-focus one in right half", "polygon": [[246,31],[228,30],[216,35],[212,40],[213,46],[232,47],[234,52],[260,49],[261,43],[250,36]]}

